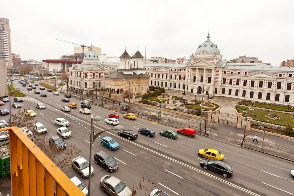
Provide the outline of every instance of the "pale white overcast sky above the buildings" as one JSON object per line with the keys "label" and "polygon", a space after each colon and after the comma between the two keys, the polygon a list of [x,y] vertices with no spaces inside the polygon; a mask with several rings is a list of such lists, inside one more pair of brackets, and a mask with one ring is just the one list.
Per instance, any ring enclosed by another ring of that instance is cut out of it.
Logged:
{"label": "pale white overcast sky above the buildings", "polygon": [[[46,3],[45,3],[46,2]],[[294,1],[3,1],[12,53],[44,60],[73,54],[69,40],[120,56],[179,58],[210,40],[223,58],[258,57],[279,66],[293,59]]]}

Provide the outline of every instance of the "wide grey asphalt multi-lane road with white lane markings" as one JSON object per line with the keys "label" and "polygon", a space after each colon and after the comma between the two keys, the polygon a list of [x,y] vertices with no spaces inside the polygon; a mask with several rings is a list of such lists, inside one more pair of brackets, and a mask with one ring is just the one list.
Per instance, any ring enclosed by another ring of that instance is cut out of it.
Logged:
{"label": "wide grey asphalt multi-lane road with white lane markings", "polygon": [[[23,88],[19,84],[14,87]],[[37,86],[36,90],[39,90]],[[33,89],[34,90],[34,89]],[[66,138],[66,143],[75,143],[82,150],[80,156],[89,160],[89,129],[91,115],[79,113],[81,108],[80,101],[76,98],[69,98],[69,103],[78,103],[78,108],[65,113],[60,110],[67,103],[61,101],[64,96],[53,95],[54,92],[40,90],[46,93],[47,97],[42,98],[40,94],[34,94],[34,91],[24,92],[27,97],[22,102],[22,108],[29,108],[36,111],[37,122],[41,122],[48,129],[48,138],[56,135],[58,125],[54,120],[58,117],[69,120],[67,127],[72,132],[70,138]],[[36,103],[44,103],[46,109],[39,110],[35,108]],[[9,109],[8,103],[0,106]],[[18,109],[12,108],[12,113]],[[112,128],[112,125],[105,124],[104,119],[113,111],[92,105],[93,115],[102,117],[97,122],[95,132]],[[293,169],[293,163],[275,158],[262,153],[253,152],[238,146],[211,140],[207,137],[196,135],[189,138],[185,135],[179,135],[176,140],[161,137],[161,130],[175,128],[152,122],[143,118],[128,120],[122,118],[122,113],[116,111],[119,115],[119,125],[123,129],[131,129],[138,133],[139,128],[151,128],[156,132],[156,136],[148,138],[145,135],[138,134],[138,138],[129,141],[117,135],[114,131],[108,131],[98,137],[92,147],[92,155],[103,150],[115,157],[119,163],[119,169],[111,173],[118,177],[132,189],[133,185],[138,184],[140,178],[154,180],[158,189],[165,191],[169,195],[293,195],[294,178],[290,175]],[[7,120],[9,115],[1,116],[1,119]],[[34,132],[35,134],[35,132]],[[100,139],[104,136],[114,138],[120,148],[110,151],[105,146],[101,146]],[[204,170],[200,165],[198,149],[215,148],[225,155],[224,162],[233,167],[234,175],[230,178],[224,178],[214,172]],[[73,157],[74,158],[74,157]],[[93,162],[94,174],[92,175],[91,191],[93,195],[106,195],[99,187],[101,177],[108,174],[106,170]],[[71,178],[77,176],[81,178],[75,170],[70,170],[66,175]],[[88,186],[88,179],[81,179]]]}

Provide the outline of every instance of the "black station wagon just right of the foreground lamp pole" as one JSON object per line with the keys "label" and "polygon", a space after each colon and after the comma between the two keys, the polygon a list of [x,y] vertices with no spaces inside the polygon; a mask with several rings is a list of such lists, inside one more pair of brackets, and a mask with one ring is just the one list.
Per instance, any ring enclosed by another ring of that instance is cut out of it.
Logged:
{"label": "black station wagon just right of the foreground lamp pole", "polygon": [[107,172],[114,172],[118,169],[118,163],[114,158],[103,151],[99,151],[94,155],[94,161]]}

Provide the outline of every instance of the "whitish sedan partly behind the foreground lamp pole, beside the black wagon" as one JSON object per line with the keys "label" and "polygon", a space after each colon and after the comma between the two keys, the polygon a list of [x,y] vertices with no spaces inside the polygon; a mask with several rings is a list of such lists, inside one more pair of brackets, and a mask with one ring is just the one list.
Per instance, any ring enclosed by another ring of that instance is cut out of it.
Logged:
{"label": "whitish sedan partly behind the foreground lamp pole, beside the black wagon", "polygon": [[[81,177],[89,176],[89,162],[83,158],[78,156],[71,160],[71,166],[81,175]],[[91,166],[91,175],[94,173],[94,169]]]}

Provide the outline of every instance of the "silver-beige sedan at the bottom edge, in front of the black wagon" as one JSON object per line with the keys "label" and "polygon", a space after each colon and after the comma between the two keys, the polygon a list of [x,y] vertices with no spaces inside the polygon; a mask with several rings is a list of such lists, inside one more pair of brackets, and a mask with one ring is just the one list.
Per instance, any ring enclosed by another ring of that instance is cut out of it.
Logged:
{"label": "silver-beige sedan at the bottom edge, in front of the black wagon", "polygon": [[131,196],[132,191],[124,182],[111,175],[105,175],[100,180],[100,186],[103,192],[113,196]]}

